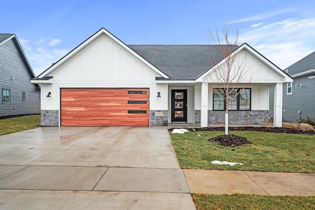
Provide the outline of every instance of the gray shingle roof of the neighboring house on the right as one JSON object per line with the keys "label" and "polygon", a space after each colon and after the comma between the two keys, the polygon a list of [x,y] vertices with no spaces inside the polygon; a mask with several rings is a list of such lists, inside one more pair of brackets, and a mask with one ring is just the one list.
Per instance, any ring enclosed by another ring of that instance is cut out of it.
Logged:
{"label": "gray shingle roof of the neighboring house on the right", "polygon": [[302,58],[295,64],[292,64],[288,68],[285,68],[284,72],[286,69],[287,69],[287,74],[289,74],[290,76],[293,74],[307,71],[307,70],[314,70],[315,69],[315,51],[311,53],[310,55]]}

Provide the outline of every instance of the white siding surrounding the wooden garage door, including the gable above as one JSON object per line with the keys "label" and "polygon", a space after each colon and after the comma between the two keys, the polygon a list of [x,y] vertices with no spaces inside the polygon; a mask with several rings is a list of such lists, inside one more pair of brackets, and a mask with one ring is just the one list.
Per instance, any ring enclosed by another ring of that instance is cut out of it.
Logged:
{"label": "white siding surrounding the wooden garage door, including the gable above", "polygon": [[[167,95],[167,89],[156,84],[156,77],[161,75],[105,34],[45,76],[53,78],[49,80],[51,84],[42,84],[42,109],[59,109],[60,88],[67,87],[150,88],[151,109],[163,108],[158,107],[164,105],[161,100],[157,102],[158,91],[161,96]],[[48,92],[59,100],[46,98]]]}

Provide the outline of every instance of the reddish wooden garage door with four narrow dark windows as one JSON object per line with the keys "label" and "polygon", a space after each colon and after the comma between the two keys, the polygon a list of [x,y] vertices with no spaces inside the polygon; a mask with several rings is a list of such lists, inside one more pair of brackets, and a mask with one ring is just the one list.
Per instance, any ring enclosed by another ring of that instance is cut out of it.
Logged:
{"label": "reddish wooden garage door with four narrow dark windows", "polygon": [[61,126],[148,127],[149,112],[149,89],[61,89]]}

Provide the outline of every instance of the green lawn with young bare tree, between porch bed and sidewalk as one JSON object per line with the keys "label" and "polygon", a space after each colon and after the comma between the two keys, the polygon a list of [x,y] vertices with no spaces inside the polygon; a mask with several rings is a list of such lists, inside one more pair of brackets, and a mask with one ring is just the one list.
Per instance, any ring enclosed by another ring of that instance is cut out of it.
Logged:
{"label": "green lawn with young bare tree, between porch bed and sidewalk", "polygon": [[[233,131],[252,144],[224,147],[208,139],[222,132],[187,132],[171,134],[181,168],[264,172],[315,173],[315,136]],[[200,135],[200,136],[198,136]],[[217,165],[211,161],[244,165]]]}

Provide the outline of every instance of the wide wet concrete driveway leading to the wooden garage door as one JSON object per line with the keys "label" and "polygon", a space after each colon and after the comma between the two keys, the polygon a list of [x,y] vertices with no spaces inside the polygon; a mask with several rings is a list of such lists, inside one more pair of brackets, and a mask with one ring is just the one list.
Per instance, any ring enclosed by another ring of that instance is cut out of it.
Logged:
{"label": "wide wet concrete driveway leading to the wooden garage door", "polygon": [[0,136],[0,209],[195,209],[166,127]]}

